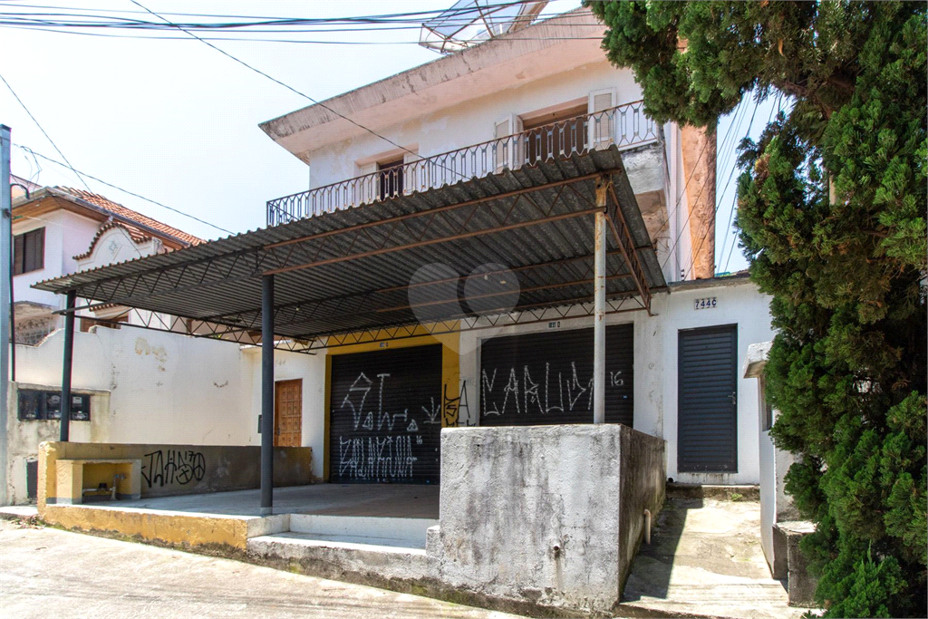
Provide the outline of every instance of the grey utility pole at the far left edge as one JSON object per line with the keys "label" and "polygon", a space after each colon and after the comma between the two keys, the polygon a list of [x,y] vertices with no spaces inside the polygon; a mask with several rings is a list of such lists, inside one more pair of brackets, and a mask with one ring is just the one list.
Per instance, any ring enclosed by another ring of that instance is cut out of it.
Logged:
{"label": "grey utility pole at the far left edge", "polygon": [[9,186],[10,129],[0,124],[0,505],[9,503],[6,496],[6,419],[9,415],[9,347],[12,325],[9,320],[10,243],[13,240],[13,194]]}

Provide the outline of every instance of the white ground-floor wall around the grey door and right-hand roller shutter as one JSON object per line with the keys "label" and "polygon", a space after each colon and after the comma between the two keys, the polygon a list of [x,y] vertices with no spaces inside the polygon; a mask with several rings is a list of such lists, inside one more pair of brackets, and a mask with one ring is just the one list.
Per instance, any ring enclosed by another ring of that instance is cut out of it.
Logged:
{"label": "white ground-floor wall around the grey door and right-hand roller shutter", "polygon": [[[715,309],[694,310],[693,300],[714,296]],[[741,368],[747,345],[767,342],[770,329],[769,297],[761,294],[746,279],[726,285],[675,290],[657,294],[652,301],[654,316],[645,312],[607,316],[607,324],[633,323],[635,329],[635,429],[667,441],[667,475],[677,482],[690,484],[758,484],[760,482],[757,435],[757,385],[754,379],[738,379],[738,472],[680,473],[677,471],[677,333],[716,325],[738,325]],[[546,316],[547,318],[548,316]],[[551,319],[559,318],[554,314]],[[561,329],[585,329],[593,326],[591,317],[561,320]],[[515,335],[547,331],[548,324],[538,323],[503,329],[472,330],[461,333],[460,375],[470,403],[470,424],[478,422],[479,341],[495,335]],[[470,351],[470,352],[467,352]]]}

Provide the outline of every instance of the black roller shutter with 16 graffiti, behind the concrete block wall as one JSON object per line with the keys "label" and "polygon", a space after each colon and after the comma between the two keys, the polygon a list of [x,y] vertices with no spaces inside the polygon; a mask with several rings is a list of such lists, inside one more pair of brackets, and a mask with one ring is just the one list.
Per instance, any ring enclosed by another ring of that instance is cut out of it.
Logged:
{"label": "black roller shutter with 16 graffiti, behind the concrete block wall", "polygon": [[[593,422],[593,329],[484,341],[480,424],[525,426]],[[632,425],[632,325],[606,328],[606,422]]]}

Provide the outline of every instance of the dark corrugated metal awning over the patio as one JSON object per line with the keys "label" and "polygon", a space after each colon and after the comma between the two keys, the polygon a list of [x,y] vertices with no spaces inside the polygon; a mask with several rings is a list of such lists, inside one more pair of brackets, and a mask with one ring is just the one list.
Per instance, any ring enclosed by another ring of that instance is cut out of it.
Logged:
{"label": "dark corrugated metal awning over the patio", "polygon": [[[612,227],[607,295],[637,296],[647,308],[651,291],[664,288],[664,277],[614,147],[112,264],[35,288],[75,291],[94,303],[247,331],[261,326],[261,277],[274,275],[275,332],[302,340],[413,325],[423,316],[456,320],[586,303],[593,295],[598,184],[607,192]],[[435,264],[444,266],[429,267]],[[507,275],[493,277],[501,273]],[[509,273],[518,280],[517,301],[513,282],[503,279]],[[471,274],[482,277],[459,284],[458,276]]]}

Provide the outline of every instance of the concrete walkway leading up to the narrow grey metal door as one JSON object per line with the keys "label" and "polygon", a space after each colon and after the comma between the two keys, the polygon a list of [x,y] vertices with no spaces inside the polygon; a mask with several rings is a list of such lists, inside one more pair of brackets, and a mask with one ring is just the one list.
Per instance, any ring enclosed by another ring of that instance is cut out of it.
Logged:
{"label": "concrete walkway leading up to the narrow grey metal door", "polygon": [[754,501],[668,498],[642,543],[617,614],[796,619],[770,576]]}

